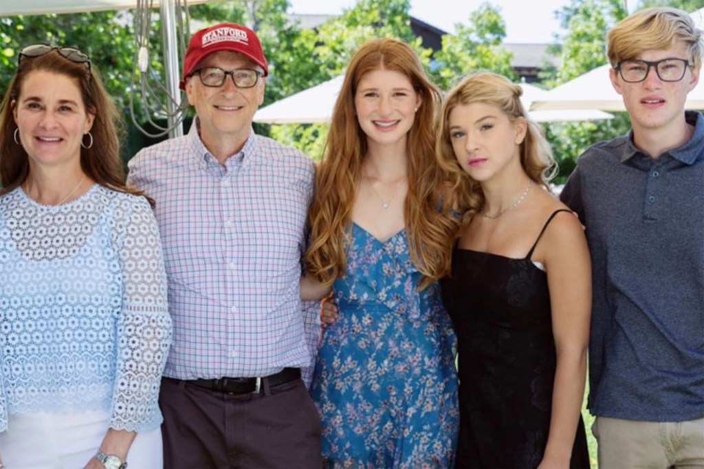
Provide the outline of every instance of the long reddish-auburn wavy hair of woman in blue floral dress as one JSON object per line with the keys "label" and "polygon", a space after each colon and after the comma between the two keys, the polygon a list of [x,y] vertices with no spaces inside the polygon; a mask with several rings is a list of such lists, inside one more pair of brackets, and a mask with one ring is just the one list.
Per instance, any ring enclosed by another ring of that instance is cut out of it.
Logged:
{"label": "long reddish-auburn wavy hair of woman in blue floral dress", "polygon": [[434,154],[433,126],[441,94],[427,79],[413,49],[396,39],[373,39],[363,44],[348,65],[308,213],[308,275],[327,285],[345,275],[352,207],[367,153],[367,137],[357,120],[355,95],[362,77],[373,70],[406,75],[422,97],[413,127],[408,131],[408,195],[403,215],[410,256],[422,273],[419,287],[423,289],[441,276],[441,265],[448,265],[444,258],[448,254],[441,243],[451,225],[439,213],[442,177]]}

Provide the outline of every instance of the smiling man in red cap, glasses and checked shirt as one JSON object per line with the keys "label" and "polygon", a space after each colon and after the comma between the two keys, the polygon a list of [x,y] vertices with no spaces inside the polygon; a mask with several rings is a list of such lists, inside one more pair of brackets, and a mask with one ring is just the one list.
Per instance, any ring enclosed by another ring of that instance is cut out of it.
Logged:
{"label": "smiling man in red cap, glasses and checked shirt", "polygon": [[197,32],[183,72],[191,130],[130,161],[130,182],[156,201],[174,323],[164,465],[321,467],[301,380],[318,338],[299,299],[313,161],[252,130],[268,64],[249,28]]}

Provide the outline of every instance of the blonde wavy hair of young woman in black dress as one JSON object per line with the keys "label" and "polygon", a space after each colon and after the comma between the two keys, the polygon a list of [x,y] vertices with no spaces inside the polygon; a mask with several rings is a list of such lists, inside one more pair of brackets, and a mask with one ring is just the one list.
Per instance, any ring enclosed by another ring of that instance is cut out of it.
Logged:
{"label": "blonde wavy hair of young woman in black dress", "polygon": [[523,90],[508,78],[496,73],[480,71],[467,75],[445,97],[439,115],[436,156],[440,168],[450,174],[451,205],[457,224],[451,237],[445,240],[451,249],[456,237],[469,225],[474,215],[484,206],[484,193],[479,182],[473,180],[457,161],[450,139],[450,113],[456,106],[484,103],[496,106],[511,122],[522,119],[527,123],[526,136],[520,144],[523,170],[536,184],[548,187],[557,164],[540,125],[528,117],[521,104]]}

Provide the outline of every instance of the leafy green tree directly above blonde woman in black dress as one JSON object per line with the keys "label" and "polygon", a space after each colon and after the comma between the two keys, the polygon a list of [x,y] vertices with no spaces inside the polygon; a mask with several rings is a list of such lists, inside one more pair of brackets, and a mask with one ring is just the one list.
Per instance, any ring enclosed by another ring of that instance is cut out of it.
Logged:
{"label": "leafy green tree directly above blonde woman in black dress", "polygon": [[431,75],[436,85],[448,90],[458,78],[482,69],[516,79],[513,54],[500,47],[506,36],[501,8],[486,2],[470,14],[467,25],[456,24],[455,30],[455,35],[443,36],[442,50],[434,54]]}

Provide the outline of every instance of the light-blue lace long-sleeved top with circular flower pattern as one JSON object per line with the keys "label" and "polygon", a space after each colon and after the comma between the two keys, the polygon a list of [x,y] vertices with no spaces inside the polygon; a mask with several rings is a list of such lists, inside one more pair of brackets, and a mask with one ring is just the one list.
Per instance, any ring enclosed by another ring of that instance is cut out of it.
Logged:
{"label": "light-blue lace long-sleeved top with circular flower pattern", "polygon": [[111,411],[158,427],[171,337],[156,221],[94,185],[60,206],[0,196],[0,431],[8,413]]}

